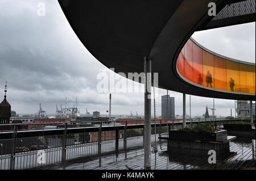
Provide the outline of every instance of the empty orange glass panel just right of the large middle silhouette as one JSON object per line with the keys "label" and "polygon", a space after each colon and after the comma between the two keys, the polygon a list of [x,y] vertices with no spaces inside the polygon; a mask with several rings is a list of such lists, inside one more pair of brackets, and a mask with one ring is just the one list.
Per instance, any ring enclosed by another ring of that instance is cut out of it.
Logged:
{"label": "empty orange glass panel just right of the large middle silhouette", "polygon": [[214,60],[214,88],[226,90],[226,60],[213,56]]}

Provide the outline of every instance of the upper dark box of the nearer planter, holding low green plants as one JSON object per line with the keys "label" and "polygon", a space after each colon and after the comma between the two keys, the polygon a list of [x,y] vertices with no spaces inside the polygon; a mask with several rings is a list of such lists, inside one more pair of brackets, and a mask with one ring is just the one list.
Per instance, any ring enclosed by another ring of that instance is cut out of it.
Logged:
{"label": "upper dark box of the nearer planter, holding low green plants", "polygon": [[226,141],[228,134],[226,130],[217,132],[193,132],[193,131],[179,131],[177,129],[169,131],[169,138],[171,140],[200,140],[200,141]]}

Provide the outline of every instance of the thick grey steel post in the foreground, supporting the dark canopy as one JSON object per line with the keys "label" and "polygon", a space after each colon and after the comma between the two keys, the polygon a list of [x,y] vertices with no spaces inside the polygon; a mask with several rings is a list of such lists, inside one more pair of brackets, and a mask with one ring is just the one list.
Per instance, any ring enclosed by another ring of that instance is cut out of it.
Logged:
{"label": "thick grey steel post in the foreground, supporting the dark canopy", "polygon": [[146,76],[144,107],[145,107],[145,123],[144,123],[144,169],[151,169],[151,60],[144,57],[144,71]]}

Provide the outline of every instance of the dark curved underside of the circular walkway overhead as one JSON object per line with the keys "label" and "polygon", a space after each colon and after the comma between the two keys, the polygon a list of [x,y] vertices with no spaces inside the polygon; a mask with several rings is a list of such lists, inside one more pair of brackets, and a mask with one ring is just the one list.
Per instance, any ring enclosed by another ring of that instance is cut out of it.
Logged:
{"label": "dark curved underside of the circular walkway overhead", "polygon": [[189,85],[176,71],[177,56],[193,34],[212,19],[208,3],[218,0],[59,0],[81,42],[102,64],[115,72],[143,72],[143,57],[152,60],[159,87],[191,95],[254,100],[252,95],[228,94]]}

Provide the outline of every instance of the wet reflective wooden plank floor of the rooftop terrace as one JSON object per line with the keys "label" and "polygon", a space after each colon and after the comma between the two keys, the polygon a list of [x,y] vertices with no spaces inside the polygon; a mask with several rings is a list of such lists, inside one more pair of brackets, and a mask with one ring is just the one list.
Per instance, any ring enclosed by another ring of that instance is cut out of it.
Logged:
{"label": "wet reflective wooden plank floor of the rooftop terrace", "polygon": [[[216,164],[208,163],[207,157],[167,151],[167,142],[158,142],[158,152],[151,153],[152,170],[187,169],[254,169],[255,139],[238,137],[230,141],[230,153],[218,158]],[[144,166],[144,150],[137,148],[102,157],[79,159],[68,165],[52,165],[44,169],[66,170],[141,170]],[[42,169],[42,168],[41,168]]]}

